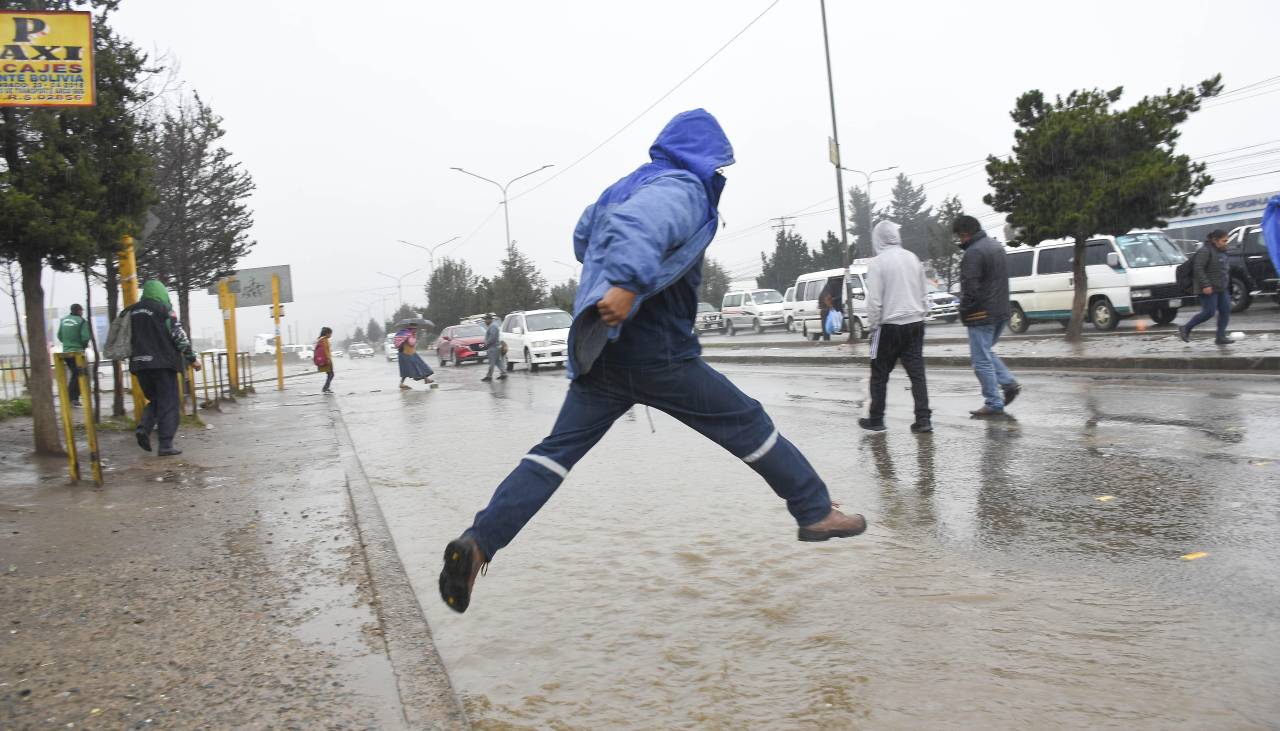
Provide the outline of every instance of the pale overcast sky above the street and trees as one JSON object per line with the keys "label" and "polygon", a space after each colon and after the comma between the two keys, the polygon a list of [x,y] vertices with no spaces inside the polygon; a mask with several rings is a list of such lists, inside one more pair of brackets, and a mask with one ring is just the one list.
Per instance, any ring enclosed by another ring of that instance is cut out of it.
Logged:
{"label": "pale overcast sky above the street and trees", "polygon": [[[372,301],[379,316],[394,309],[394,282],[379,271],[422,269],[403,289],[424,300],[426,255],[397,239],[460,236],[438,261],[497,269],[500,193],[453,165],[507,181],[554,164],[512,187],[512,238],[549,280],[571,277],[582,207],[646,159],[672,114],[696,106],[719,118],[737,157],[721,205],[727,228],[710,255],[754,275],[773,245],[769,219],[790,214],[817,243],[838,225],[828,210],[836,186],[818,0],[771,4],[124,0],[114,23],[172,54],[184,88],[225,118],[225,143],[257,183],[257,247],[243,265],[293,266],[287,315],[311,341],[324,324],[346,335],[357,303]],[[916,183],[933,181],[931,201],[955,193],[979,216],[989,209],[974,163],[1010,149],[1009,110],[1023,91],[1124,86],[1132,102],[1219,72],[1229,91],[1280,74],[1274,0],[832,0],[828,14],[845,165],[897,165]],[[1185,125],[1181,150],[1193,156],[1272,142],[1216,157],[1219,178],[1268,174],[1216,184],[1202,200],[1280,189],[1276,91],[1272,81],[1236,93]],[[1240,159],[1253,152],[1262,155]],[[846,174],[846,187],[860,179]],[[877,183],[874,196],[890,186]],[[984,223],[1000,228],[998,218]],[[83,300],[73,277],[49,275],[49,289],[51,306]],[[214,300],[193,294],[196,335],[220,326]],[[12,333],[12,314],[3,321]],[[266,309],[241,311],[239,330],[242,346],[269,332]]]}

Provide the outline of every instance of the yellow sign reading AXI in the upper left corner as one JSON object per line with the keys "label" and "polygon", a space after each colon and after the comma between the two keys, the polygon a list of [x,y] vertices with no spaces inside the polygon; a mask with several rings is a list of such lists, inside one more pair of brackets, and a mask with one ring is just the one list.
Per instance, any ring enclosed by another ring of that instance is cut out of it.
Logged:
{"label": "yellow sign reading AXI in the upper left corner", "polygon": [[93,106],[93,18],[0,10],[0,106]]}

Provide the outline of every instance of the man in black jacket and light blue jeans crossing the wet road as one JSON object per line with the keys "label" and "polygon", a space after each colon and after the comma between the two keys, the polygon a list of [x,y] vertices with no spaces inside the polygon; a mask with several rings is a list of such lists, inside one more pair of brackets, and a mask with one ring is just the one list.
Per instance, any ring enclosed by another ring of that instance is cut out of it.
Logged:
{"label": "man in black jacket and light blue jeans crossing the wet road", "polygon": [[961,215],[951,224],[960,239],[960,321],[969,330],[969,357],[982,384],[982,408],[973,416],[1005,412],[1023,387],[996,355],[1000,333],[1009,324],[1009,268],[1004,247],[982,230],[978,219]]}

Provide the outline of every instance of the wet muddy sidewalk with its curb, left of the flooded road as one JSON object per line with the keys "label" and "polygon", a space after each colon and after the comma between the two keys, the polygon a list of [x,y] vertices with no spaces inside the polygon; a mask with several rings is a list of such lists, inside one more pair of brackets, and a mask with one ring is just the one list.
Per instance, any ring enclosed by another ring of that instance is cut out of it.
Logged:
{"label": "wet muddy sidewalk with its curb, left of the flooded road", "polygon": [[330,407],[105,433],[101,489],[0,422],[0,728],[462,727]]}

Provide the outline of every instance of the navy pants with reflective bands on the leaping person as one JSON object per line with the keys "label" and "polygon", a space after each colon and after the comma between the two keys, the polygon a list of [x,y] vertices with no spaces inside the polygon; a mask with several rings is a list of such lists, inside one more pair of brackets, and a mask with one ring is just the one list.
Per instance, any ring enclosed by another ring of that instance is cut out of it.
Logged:
{"label": "navy pants with reflective bands on the leaping person", "polygon": [[778,435],[758,401],[701,358],[644,367],[596,364],[570,384],[550,435],[525,454],[466,531],[488,558],[516,538],[573,465],[637,403],[675,416],[750,465],[787,501],[799,525],[831,512],[827,485],[804,454]]}

